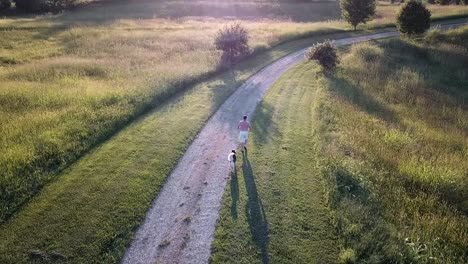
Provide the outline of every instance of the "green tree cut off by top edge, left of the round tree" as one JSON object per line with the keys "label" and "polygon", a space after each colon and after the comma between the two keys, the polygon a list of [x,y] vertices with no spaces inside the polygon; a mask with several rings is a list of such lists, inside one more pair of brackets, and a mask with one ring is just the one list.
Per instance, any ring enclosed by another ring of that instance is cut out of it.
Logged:
{"label": "green tree cut off by top edge, left of the round tree", "polygon": [[360,23],[370,21],[375,15],[375,0],[340,0],[341,15],[356,30]]}

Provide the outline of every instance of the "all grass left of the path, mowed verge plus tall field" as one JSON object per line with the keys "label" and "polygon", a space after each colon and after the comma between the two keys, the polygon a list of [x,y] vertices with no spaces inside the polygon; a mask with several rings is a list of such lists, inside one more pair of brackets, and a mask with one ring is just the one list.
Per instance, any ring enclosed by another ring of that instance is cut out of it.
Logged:
{"label": "all grass left of the path, mowed verge plus tall field", "polygon": [[[117,262],[168,172],[216,107],[268,62],[320,39],[278,46],[234,75],[174,97],[216,70],[212,36],[232,19],[164,16],[158,5],[0,20],[0,222],[54,179],[0,226],[0,262],[34,256],[63,262],[62,255],[70,263]],[[453,8],[443,12],[448,10]],[[242,19],[258,50],[349,29],[342,22],[297,23],[269,15]]]}

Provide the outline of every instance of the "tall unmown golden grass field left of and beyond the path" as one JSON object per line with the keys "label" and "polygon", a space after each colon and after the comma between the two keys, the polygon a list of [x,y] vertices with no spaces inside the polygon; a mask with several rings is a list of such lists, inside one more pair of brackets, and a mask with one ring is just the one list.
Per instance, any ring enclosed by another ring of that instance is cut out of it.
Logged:
{"label": "tall unmown golden grass field left of and beyond the path", "polygon": [[[431,8],[439,17],[468,13]],[[391,25],[397,9],[379,6],[368,28]],[[342,21],[316,22],[337,13],[335,2],[158,1],[0,19],[0,222],[135,117],[212,76],[213,37],[232,23],[225,15],[242,21],[259,52],[348,31]]]}

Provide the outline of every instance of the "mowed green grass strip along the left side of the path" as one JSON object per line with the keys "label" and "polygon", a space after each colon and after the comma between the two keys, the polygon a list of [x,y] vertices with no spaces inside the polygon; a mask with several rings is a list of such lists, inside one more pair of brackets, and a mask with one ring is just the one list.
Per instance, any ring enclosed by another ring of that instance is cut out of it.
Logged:
{"label": "mowed green grass strip along the left side of the path", "polygon": [[218,106],[263,66],[314,41],[323,38],[278,46],[196,85],[94,149],[0,226],[0,263],[117,263],[165,178]]}

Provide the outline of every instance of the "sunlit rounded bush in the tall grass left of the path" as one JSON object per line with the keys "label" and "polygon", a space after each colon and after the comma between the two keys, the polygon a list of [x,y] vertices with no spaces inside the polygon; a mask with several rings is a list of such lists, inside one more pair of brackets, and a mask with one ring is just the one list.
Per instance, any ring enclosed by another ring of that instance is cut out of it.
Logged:
{"label": "sunlit rounded bush in the tall grass left of the path", "polygon": [[222,65],[232,65],[248,55],[250,52],[248,41],[249,34],[240,24],[227,26],[218,31],[215,46],[223,51]]}

